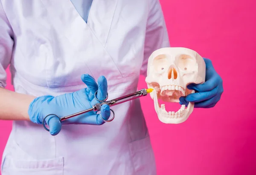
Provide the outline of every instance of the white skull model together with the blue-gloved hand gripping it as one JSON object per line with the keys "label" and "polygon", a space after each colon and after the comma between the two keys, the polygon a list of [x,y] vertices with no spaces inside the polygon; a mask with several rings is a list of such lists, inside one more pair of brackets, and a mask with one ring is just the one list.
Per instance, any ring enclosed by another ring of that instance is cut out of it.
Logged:
{"label": "white skull model together with the blue-gloved hand gripping it", "polygon": [[[163,123],[182,123],[194,107],[215,106],[223,92],[221,77],[209,59],[187,48],[162,48],[151,54],[145,79],[154,89],[151,98],[158,118]],[[177,102],[177,112],[167,112],[164,102]]]}

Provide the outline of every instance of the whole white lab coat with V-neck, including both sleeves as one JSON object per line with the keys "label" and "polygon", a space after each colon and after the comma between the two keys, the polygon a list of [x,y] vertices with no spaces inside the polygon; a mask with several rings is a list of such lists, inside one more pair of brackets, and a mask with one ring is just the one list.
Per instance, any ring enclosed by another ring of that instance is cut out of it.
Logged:
{"label": "whole white lab coat with V-neck, including both sleeves", "polygon": [[[88,23],[70,0],[0,2],[0,85],[10,64],[19,93],[74,92],[90,74],[107,78],[109,99],[126,95],[137,90],[149,55],[169,47],[158,0],[93,0]],[[56,136],[14,121],[2,175],[155,175],[140,100],[111,109],[110,123],[66,125]]]}

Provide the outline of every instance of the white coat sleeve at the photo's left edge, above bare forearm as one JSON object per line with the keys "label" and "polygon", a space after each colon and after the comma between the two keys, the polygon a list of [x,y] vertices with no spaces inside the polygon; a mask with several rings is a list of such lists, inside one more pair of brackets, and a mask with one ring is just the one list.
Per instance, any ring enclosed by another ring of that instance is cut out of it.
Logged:
{"label": "white coat sleeve at the photo's left edge, above bare forearm", "polygon": [[0,87],[3,88],[6,87],[6,69],[12,58],[12,48],[14,45],[12,36],[12,27],[0,0]]}

